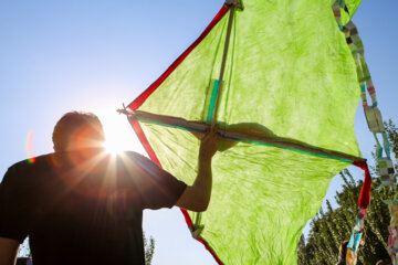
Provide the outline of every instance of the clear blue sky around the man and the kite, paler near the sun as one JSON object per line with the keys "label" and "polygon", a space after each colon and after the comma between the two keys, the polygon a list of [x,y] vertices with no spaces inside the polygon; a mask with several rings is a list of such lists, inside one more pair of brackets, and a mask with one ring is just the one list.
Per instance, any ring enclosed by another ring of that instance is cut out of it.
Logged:
{"label": "clear blue sky around the man and the kite, paler near the sun", "polygon": [[[27,158],[30,131],[33,152],[51,152],[54,124],[73,109],[98,114],[116,145],[143,152],[125,117],[115,109],[156,80],[222,3],[0,0],[0,176]],[[354,22],[365,44],[383,115],[398,123],[398,2],[364,1]],[[362,108],[355,130],[364,157],[370,158],[374,140]],[[337,178],[332,181],[327,198],[339,183]],[[177,209],[147,211],[144,229],[156,240],[154,264],[216,264],[191,240]]]}

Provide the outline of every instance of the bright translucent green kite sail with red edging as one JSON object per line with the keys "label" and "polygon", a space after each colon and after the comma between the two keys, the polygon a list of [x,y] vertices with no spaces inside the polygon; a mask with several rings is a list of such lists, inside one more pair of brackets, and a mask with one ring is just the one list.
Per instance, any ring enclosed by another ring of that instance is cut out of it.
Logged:
{"label": "bright translucent green kite sail with red edging", "polygon": [[[360,0],[345,3],[353,15]],[[188,184],[198,135],[218,124],[210,205],[181,211],[219,264],[296,264],[332,178],[367,168],[354,134],[359,97],[331,1],[228,0],[126,110],[149,157]]]}

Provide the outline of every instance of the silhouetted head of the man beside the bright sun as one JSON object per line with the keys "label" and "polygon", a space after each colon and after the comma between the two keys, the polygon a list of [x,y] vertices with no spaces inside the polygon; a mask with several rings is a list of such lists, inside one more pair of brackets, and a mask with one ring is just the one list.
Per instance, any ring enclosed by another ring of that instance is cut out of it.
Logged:
{"label": "silhouetted head of the man beside the bright sun", "polygon": [[97,116],[91,113],[66,113],[53,131],[55,151],[103,147],[105,135]]}

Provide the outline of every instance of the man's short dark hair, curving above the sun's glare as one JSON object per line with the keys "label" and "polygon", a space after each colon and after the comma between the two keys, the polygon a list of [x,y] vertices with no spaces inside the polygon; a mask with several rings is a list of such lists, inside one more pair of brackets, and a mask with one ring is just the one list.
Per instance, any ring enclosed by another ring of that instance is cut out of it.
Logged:
{"label": "man's short dark hair, curving above the sun's glare", "polygon": [[81,126],[88,125],[98,131],[105,139],[104,129],[98,117],[92,113],[70,112],[56,123],[52,135],[55,151],[64,151],[67,148],[71,135]]}

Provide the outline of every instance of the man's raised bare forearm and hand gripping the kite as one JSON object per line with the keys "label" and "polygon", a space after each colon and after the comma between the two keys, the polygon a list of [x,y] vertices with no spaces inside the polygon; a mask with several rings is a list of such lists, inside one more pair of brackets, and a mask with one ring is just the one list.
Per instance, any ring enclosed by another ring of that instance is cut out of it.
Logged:
{"label": "man's raised bare forearm and hand gripping the kite", "polygon": [[192,186],[188,186],[176,205],[195,211],[207,210],[211,195],[211,158],[217,152],[217,129],[213,127],[207,132],[200,142],[199,148],[199,171]]}

